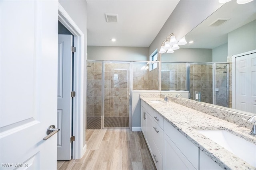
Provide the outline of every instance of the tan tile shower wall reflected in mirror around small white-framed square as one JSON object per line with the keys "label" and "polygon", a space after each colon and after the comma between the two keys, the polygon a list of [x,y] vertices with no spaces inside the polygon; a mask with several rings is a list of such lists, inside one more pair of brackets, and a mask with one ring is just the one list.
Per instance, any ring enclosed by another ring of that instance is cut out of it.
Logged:
{"label": "tan tile shower wall reflected in mirror around small white-framed square", "polygon": [[201,92],[201,102],[213,104],[212,64],[190,64],[190,99]]}

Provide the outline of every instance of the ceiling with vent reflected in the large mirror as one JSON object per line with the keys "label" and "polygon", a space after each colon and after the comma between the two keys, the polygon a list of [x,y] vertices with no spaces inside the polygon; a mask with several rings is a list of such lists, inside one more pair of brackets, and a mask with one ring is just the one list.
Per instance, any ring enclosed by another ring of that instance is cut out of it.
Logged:
{"label": "ceiling with vent reflected in the large mirror", "polygon": [[[229,18],[219,26],[209,26],[218,18]],[[256,20],[256,0],[247,4],[237,4],[235,0],[227,2],[204,20],[185,37],[194,43],[180,46],[182,48],[213,49],[228,42],[228,33]]]}

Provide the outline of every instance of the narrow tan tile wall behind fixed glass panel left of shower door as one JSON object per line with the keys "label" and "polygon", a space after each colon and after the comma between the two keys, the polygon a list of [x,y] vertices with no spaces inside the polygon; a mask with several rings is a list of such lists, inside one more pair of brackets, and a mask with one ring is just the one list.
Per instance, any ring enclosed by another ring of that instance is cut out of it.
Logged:
{"label": "narrow tan tile wall behind fixed glass panel left of shower door", "polygon": [[88,117],[100,117],[102,106],[102,62],[87,62],[87,103]]}

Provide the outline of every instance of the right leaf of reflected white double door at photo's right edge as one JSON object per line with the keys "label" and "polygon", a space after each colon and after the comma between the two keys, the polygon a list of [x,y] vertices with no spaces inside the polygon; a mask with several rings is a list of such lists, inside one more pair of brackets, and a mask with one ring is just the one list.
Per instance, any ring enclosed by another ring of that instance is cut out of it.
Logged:
{"label": "right leaf of reflected white double door at photo's right edge", "polygon": [[249,55],[249,111],[256,113],[256,53]]}

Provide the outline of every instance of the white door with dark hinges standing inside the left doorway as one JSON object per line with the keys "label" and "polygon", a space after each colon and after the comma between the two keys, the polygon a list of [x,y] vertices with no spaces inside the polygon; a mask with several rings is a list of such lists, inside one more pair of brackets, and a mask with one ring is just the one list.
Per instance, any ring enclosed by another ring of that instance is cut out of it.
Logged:
{"label": "white door with dark hinges standing inside the left doorway", "polygon": [[71,159],[72,35],[58,35],[57,160]]}

